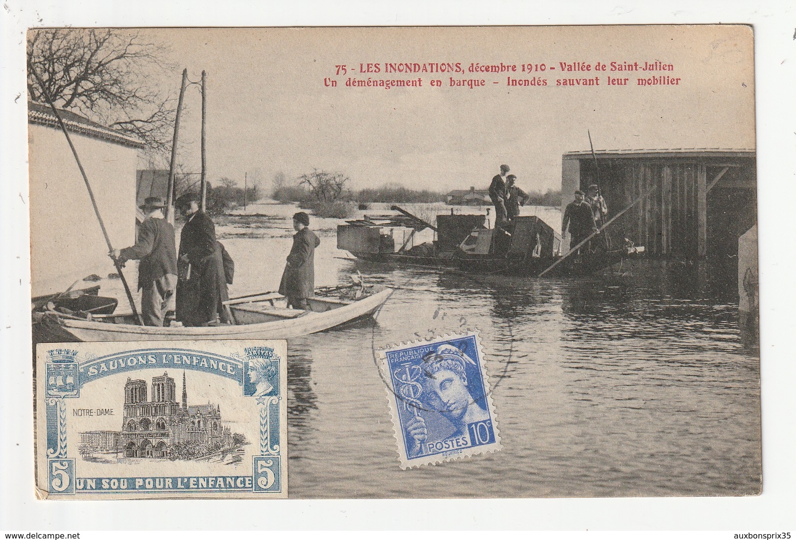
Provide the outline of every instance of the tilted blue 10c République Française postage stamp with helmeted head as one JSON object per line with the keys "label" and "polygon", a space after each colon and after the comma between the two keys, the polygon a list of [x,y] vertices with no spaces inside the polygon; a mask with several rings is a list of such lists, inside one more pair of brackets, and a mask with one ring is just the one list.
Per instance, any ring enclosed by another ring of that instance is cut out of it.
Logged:
{"label": "tilted blue 10c R\u00e9publique Fran\u00e7aise postage stamp with helmeted head", "polygon": [[392,346],[381,361],[401,468],[501,448],[478,332]]}

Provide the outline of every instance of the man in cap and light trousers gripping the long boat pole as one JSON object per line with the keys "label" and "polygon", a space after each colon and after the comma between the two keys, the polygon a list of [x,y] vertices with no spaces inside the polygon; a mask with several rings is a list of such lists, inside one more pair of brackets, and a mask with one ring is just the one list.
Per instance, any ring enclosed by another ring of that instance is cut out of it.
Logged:
{"label": "man in cap and light trousers gripping the long boat pole", "polygon": [[174,290],[177,288],[177,252],[174,249],[174,227],[163,217],[162,198],[147,197],[139,208],[146,219],[139,227],[135,245],[114,249],[111,258],[124,264],[140,260],[139,289],[144,324],[162,327],[163,318],[174,311]]}

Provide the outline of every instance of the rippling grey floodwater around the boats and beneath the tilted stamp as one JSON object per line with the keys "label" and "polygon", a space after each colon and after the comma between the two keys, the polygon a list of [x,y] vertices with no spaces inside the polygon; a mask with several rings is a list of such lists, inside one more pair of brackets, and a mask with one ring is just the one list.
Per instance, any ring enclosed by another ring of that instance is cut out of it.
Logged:
{"label": "rippling grey floodwater around the boats and beneath the tilted stamp", "polygon": [[[220,223],[231,295],[278,288],[295,211],[251,205],[259,215]],[[523,213],[560,225],[558,209]],[[337,223],[313,218],[316,285],[361,272],[396,292],[377,323],[289,342],[291,497],[759,491],[759,352],[739,333],[735,275],[650,262],[543,280],[400,268],[346,260]],[[377,350],[467,328],[480,331],[504,448],[402,471]]]}

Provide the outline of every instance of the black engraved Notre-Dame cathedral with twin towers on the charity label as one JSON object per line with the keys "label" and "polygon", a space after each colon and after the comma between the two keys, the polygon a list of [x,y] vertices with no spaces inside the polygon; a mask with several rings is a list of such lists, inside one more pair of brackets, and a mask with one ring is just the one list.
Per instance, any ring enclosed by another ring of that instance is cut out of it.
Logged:
{"label": "black engraved Notre-Dame cathedral with twin towers on the charity label", "polygon": [[232,445],[232,432],[221,421],[219,405],[188,405],[184,373],[181,404],[174,378],[167,373],[152,378],[151,397],[152,401],[146,399],[146,381],[127,378],[121,432],[125,457],[163,458],[174,444],[188,441],[220,448]]}

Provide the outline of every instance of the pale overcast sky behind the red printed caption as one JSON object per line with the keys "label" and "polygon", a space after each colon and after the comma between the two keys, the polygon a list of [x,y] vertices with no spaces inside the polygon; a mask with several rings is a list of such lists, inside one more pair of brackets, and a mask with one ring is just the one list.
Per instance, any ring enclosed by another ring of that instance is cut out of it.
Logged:
{"label": "pale overcast sky behind the red printed caption", "polygon": [[[560,188],[561,155],[589,149],[754,148],[752,33],[745,26],[152,29],[175,70],[208,72],[209,178],[270,185],[314,167],[340,171],[352,187],[388,182],[447,191],[486,187],[501,163],[527,190]],[[583,61],[591,72],[560,70]],[[602,61],[661,61],[673,71],[595,72]],[[360,63],[382,72],[360,73]],[[541,64],[547,87],[509,88],[506,75],[410,74],[423,88],[345,88],[348,76],[384,73],[385,62]],[[349,68],[336,75],[335,65]],[[555,70],[551,69],[555,67]],[[351,72],[351,69],[355,72]],[[485,79],[485,88],[450,88]],[[599,87],[557,88],[556,79],[599,76]],[[608,86],[607,77],[630,78]],[[680,77],[638,87],[639,76]],[[325,77],[338,81],[324,86]],[[431,88],[431,79],[443,88]],[[492,84],[497,80],[500,84]],[[186,97],[180,161],[199,170],[197,87]]]}

